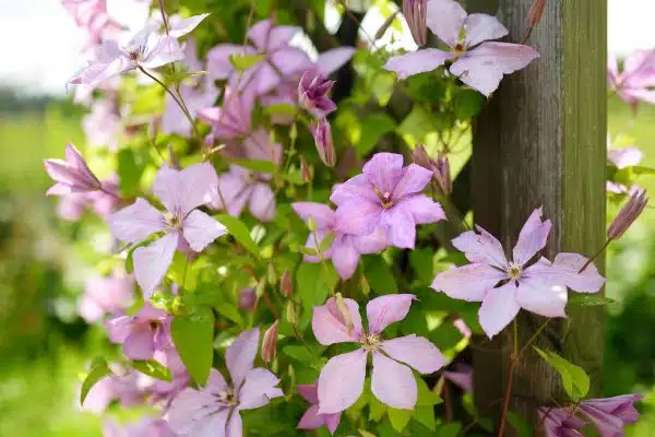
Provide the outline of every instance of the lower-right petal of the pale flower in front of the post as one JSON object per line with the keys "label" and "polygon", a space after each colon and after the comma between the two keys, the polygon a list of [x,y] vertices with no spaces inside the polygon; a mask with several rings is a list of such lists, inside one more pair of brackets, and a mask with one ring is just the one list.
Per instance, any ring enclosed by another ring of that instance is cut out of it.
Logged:
{"label": "lower-right petal of the pale flower in front of the post", "polygon": [[567,287],[537,277],[521,279],[516,303],[523,309],[545,317],[567,317]]}

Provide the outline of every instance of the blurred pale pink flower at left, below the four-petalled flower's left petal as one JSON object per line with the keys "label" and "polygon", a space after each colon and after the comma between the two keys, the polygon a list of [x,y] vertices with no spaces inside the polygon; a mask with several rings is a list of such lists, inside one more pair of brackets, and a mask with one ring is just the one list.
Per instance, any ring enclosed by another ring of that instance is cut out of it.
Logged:
{"label": "blurred pale pink flower at left, below the four-petalled flower's left petal", "polygon": [[132,277],[121,271],[111,276],[93,276],[86,281],[78,312],[88,323],[99,321],[106,314],[127,309],[132,303]]}

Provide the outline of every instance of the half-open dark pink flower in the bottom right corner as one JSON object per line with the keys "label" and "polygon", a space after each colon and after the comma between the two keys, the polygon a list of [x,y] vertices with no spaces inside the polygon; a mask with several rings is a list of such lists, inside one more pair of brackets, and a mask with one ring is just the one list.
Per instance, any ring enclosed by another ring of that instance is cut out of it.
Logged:
{"label": "half-open dark pink flower in the bottom right corner", "polygon": [[632,403],[642,399],[641,394],[587,399],[580,403],[580,411],[592,421],[602,437],[622,436],[623,426],[639,420],[639,412]]}

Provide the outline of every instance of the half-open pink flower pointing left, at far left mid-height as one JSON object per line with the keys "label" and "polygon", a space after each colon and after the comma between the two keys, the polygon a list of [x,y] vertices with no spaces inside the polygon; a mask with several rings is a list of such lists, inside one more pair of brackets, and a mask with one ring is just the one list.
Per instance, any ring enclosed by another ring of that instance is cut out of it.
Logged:
{"label": "half-open pink flower pointing left, at far left mid-height", "polygon": [[48,175],[57,182],[46,192],[47,196],[102,190],[100,181],[73,144],[66,146],[66,161],[46,160],[44,164]]}

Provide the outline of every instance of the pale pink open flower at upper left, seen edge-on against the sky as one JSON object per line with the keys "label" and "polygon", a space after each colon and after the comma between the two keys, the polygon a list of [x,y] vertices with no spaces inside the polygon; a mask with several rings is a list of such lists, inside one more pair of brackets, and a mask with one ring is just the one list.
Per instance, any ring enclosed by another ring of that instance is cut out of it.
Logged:
{"label": "pale pink open flower at upper left, seen edge-on against the sky", "polygon": [[69,80],[74,85],[96,86],[104,80],[139,68],[154,69],[184,59],[179,37],[193,31],[209,14],[194,15],[170,26],[169,34],[160,36],[160,24],[148,24],[124,47],[116,40],[103,42],[96,60]]}

